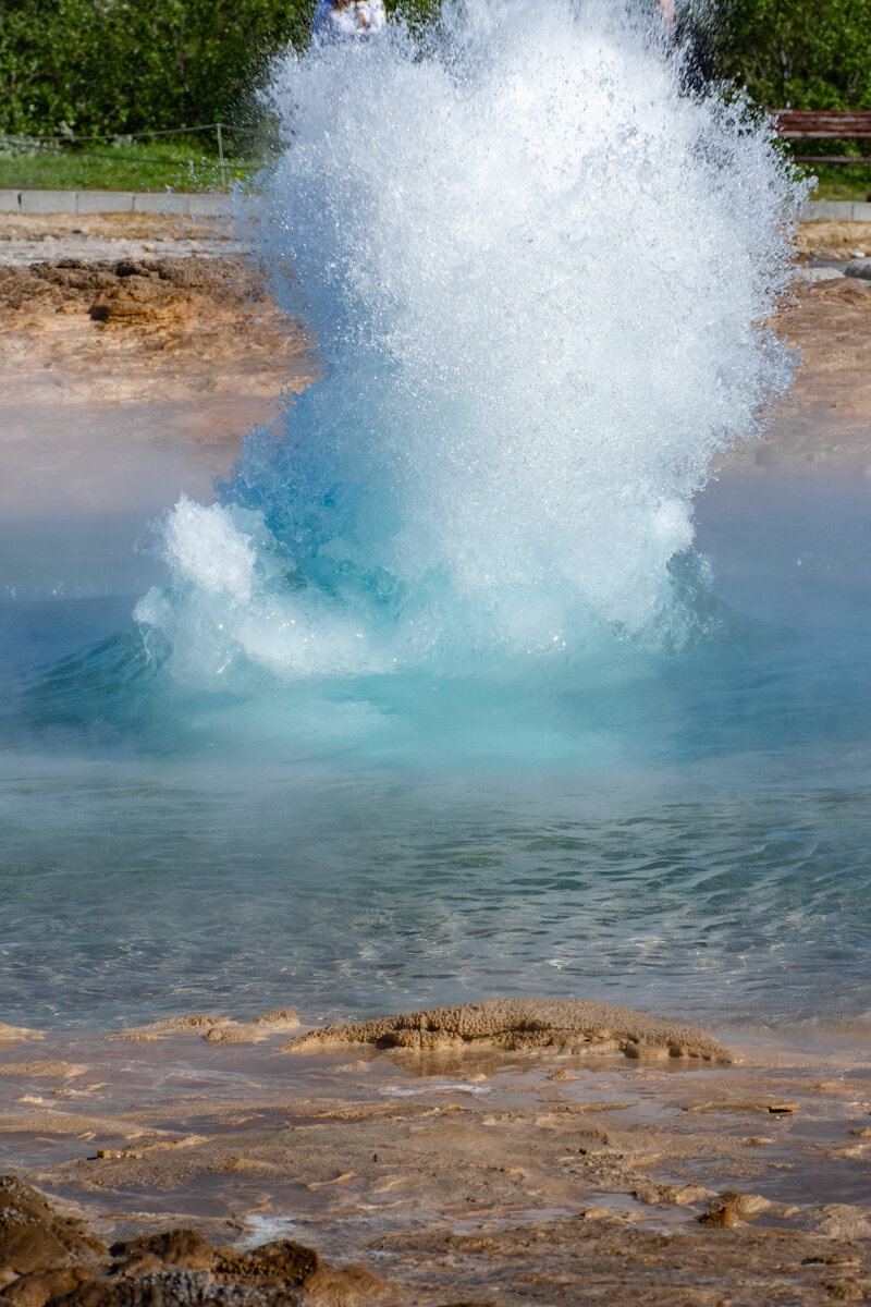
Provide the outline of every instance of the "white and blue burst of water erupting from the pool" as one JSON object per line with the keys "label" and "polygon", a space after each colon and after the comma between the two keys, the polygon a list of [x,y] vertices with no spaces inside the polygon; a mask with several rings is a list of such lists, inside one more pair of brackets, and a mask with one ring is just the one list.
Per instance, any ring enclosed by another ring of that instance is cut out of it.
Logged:
{"label": "white and blue burst of water erupting from the pool", "polygon": [[151,646],[209,685],[679,640],[693,494],[790,376],[767,131],[569,0],[290,52],[273,93],[259,239],[323,379],[170,515]]}

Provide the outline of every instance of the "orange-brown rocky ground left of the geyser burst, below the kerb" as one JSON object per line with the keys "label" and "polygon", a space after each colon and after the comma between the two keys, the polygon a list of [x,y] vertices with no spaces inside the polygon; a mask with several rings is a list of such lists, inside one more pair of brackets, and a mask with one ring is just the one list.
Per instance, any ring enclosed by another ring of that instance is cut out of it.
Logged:
{"label": "orange-brown rocky ground left of the geyser burst, below the kerb", "polygon": [[307,386],[311,341],[230,233],[149,214],[0,214],[4,437],[99,426],[120,452],[141,413],[165,439],[232,448]]}

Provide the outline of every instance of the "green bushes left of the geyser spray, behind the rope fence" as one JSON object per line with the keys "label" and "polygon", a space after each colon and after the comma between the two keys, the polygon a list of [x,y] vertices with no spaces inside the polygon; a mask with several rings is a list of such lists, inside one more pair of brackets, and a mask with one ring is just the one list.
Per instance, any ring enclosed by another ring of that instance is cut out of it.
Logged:
{"label": "green bushes left of the geyser spray, behind the rope fence", "polygon": [[0,129],[137,132],[235,122],[313,0],[3,0]]}

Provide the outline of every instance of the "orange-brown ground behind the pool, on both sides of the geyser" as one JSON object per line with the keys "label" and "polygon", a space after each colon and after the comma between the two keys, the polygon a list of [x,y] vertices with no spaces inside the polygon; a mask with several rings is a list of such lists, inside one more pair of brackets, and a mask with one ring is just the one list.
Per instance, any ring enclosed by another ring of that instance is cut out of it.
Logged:
{"label": "orange-brown ground behind the pool, on both sides of the geyser", "polygon": [[[778,323],[798,352],[794,395],[726,469],[871,474],[871,281],[840,274],[871,254],[868,226],[799,229],[802,267],[823,263],[831,280],[797,282]],[[279,314],[229,223],[0,214],[7,434],[24,438],[38,405],[76,426],[159,403],[179,440],[230,448],[316,372],[303,325]]]}

